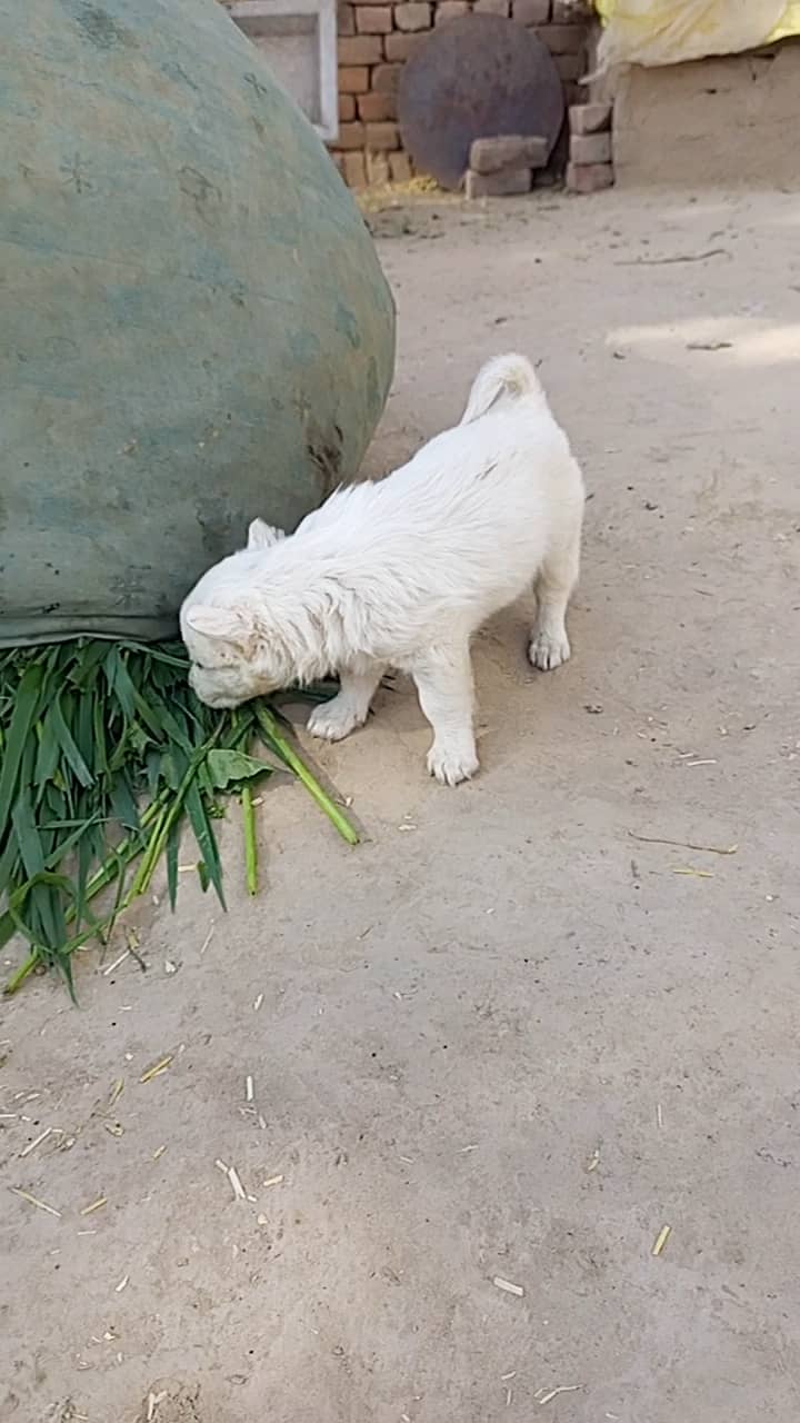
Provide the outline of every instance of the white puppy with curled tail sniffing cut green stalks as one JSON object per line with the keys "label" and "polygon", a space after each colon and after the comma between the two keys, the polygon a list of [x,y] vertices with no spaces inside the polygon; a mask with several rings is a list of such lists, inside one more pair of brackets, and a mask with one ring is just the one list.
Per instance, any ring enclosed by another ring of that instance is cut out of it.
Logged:
{"label": "white puppy with curled tail sniffing cut green stalks", "polygon": [[582,515],[581,471],[532,366],[501,356],[461,424],[401,470],[337,490],[288,538],[256,519],[246,549],[204,573],[181,609],[192,687],[231,707],[339,673],[309,719],[336,741],[397,667],[433,727],[428,770],[456,785],[478,768],[470,639],[532,585],[531,662],[567,660]]}

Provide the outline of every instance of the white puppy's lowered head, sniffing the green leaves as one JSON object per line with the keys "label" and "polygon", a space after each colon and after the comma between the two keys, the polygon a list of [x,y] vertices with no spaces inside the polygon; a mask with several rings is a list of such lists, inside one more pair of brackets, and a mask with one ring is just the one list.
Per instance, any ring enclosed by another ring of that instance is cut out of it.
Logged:
{"label": "white puppy's lowered head, sniffing the green leaves", "polygon": [[239,706],[295,679],[288,649],[253,581],[258,555],[282,538],[255,519],[246,549],[209,568],[184,601],[181,636],[191,660],[189,684],[211,707]]}

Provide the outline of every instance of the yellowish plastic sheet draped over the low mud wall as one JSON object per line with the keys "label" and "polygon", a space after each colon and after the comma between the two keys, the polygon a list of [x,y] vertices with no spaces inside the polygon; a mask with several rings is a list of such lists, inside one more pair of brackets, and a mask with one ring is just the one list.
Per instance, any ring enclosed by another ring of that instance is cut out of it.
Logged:
{"label": "yellowish plastic sheet draped over the low mud wall", "polygon": [[800,0],[595,0],[598,68],[680,64],[800,34]]}

